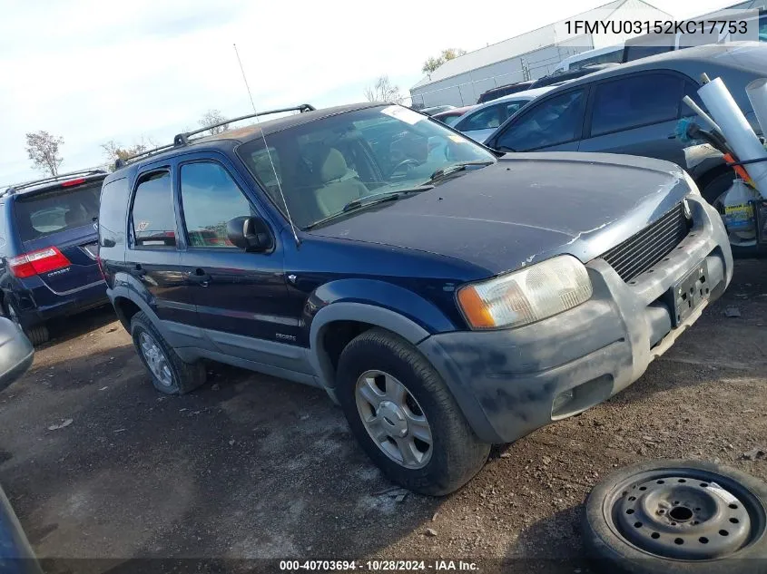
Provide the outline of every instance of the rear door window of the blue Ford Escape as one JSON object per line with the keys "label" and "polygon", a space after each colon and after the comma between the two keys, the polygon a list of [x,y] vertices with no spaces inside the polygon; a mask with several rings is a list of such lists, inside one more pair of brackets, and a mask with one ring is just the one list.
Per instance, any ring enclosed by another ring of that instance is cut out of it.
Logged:
{"label": "rear door window of the blue Ford Escape", "polygon": [[176,217],[169,171],[154,171],[139,180],[131,224],[136,247],[175,247]]}

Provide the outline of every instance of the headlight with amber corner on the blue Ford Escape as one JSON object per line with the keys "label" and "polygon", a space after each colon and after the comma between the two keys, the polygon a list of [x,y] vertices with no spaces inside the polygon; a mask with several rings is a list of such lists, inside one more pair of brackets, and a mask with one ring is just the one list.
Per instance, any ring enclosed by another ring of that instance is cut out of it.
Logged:
{"label": "headlight with amber corner on the blue Ford Escape", "polygon": [[461,287],[458,305],[473,329],[522,326],[591,298],[583,263],[561,255],[501,277]]}

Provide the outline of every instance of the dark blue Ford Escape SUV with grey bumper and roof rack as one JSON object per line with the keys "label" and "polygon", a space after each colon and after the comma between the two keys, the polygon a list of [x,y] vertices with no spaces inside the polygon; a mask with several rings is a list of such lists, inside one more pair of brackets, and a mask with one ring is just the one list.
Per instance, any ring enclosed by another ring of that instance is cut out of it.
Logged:
{"label": "dark blue Ford Escape SUV with grey bumper and roof rack", "polygon": [[117,163],[107,293],[162,393],[205,359],[319,386],[413,491],[632,384],[732,277],[671,163],[498,157],[398,105],[259,115],[286,111]]}

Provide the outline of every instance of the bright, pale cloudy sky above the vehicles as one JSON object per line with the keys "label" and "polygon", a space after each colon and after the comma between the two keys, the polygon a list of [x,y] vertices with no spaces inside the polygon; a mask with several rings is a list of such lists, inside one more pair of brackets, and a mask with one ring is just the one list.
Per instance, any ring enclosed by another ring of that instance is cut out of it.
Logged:
{"label": "bright, pale cloudy sky above the vehicles", "polygon": [[[0,0],[0,187],[40,175],[29,131],[64,138],[64,172],[103,164],[106,141],[170,143],[210,109],[251,112],[232,44],[257,109],[323,107],[364,101],[382,74],[408,94],[443,48],[476,50],[602,4]],[[732,3],[651,4],[680,19]]]}

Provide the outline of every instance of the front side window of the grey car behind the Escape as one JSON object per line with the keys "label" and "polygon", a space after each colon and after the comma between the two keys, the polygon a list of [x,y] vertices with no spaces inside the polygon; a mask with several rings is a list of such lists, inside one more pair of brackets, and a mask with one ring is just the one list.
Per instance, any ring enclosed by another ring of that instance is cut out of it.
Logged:
{"label": "front side window of the grey car behind the Escape", "polygon": [[540,102],[517,118],[497,141],[497,147],[535,150],[573,141],[584,118],[584,91],[565,92]]}

